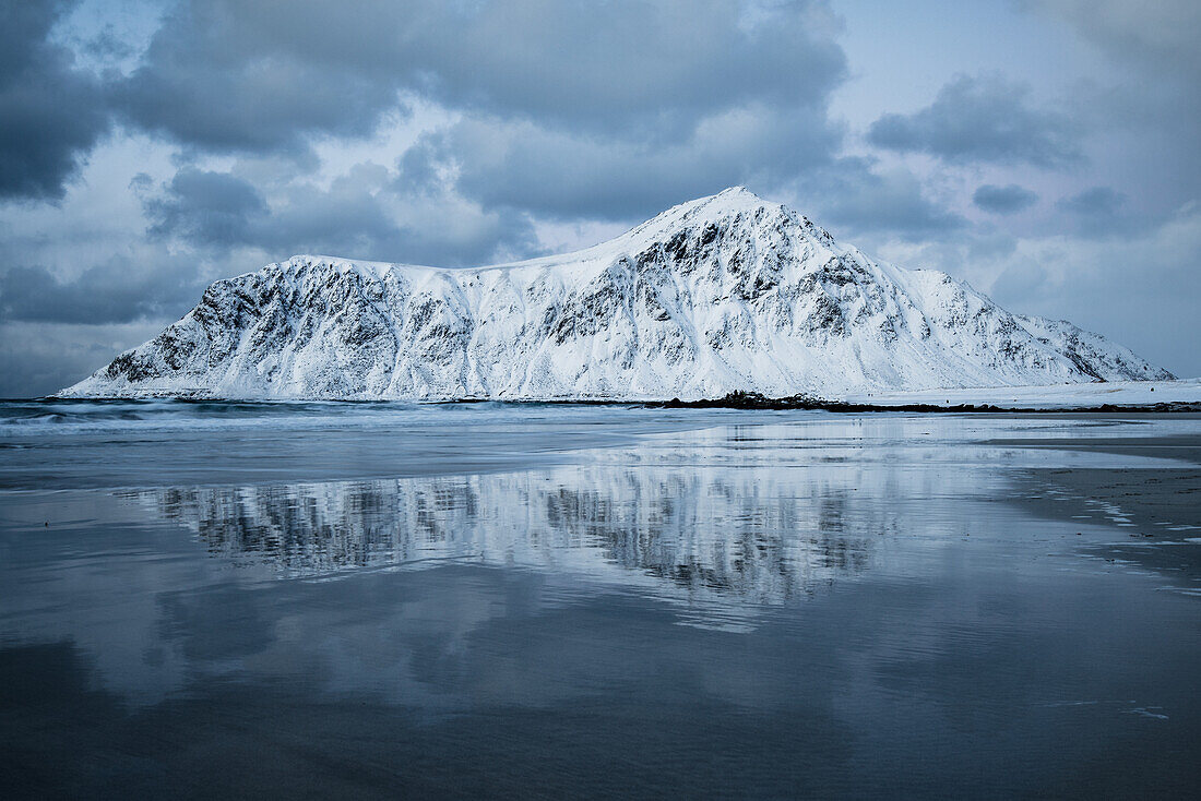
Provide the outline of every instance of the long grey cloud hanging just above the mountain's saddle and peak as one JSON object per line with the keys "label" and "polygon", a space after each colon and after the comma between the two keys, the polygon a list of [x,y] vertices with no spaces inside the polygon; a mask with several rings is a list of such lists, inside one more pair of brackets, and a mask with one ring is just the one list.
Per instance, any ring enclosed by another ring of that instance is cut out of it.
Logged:
{"label": "long grey cloud hanging just above the mountain's saddle and peak", "polygon": [[[456,189],[485,207],[545,217],[633,220],[727,186],[770,192],[832,162],[839,133],[824,112],[761,106],[707,118],[685,139],[646,144],[470,118],[423,157],[456,165]],[[435,169],[419,160],[414,173]]]}

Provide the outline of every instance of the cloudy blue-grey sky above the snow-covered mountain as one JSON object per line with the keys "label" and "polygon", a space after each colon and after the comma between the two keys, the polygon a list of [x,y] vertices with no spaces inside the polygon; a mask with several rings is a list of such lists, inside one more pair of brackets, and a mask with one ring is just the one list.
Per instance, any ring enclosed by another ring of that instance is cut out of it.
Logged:
{"label": "cloudy blue-grey sky above the snow-covered mountain", "polygon": [[293,253],[483,264],[742,184],[1201,375],[1196,0],[0,4],[0,396]]}

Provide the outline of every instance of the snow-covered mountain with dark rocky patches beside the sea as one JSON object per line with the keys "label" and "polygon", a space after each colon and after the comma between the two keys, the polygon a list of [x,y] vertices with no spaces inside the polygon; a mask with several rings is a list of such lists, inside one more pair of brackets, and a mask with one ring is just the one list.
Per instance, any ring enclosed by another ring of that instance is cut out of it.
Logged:
{"label": "snow-covered mountain with dark rocky patches beside the sea", "polygon": [[1097,334],[876,262],[735,187],[513,264],[294,256],[213,283],[61,394],[695,399],[1165,378]]}

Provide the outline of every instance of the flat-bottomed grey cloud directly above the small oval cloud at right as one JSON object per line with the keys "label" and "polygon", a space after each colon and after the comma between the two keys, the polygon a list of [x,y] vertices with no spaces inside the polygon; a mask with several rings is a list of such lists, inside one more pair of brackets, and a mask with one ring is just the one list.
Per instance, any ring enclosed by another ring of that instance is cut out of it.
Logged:
{"label": "flat-bottomed grey cloud directly above the small oval cloud at right", "polygon": [[913,114],[885,114],[867,133],[878,148],[926,153],[952,163],[1064,167],[1082,159],[1077,126],[1035,108],[1029,90],[999,76],[958,76]]}

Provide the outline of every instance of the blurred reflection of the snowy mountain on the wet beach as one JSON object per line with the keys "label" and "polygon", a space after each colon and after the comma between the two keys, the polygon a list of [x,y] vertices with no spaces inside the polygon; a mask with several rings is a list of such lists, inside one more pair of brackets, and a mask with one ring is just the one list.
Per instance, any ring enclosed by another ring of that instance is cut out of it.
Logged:
{"label": "blurred reflection of the snowy mountain on the wet beach", "polygon": [[876,504],[854,514],[848,486],[763,468],[564,467],[135,497],[211,554],[281,578],[470,560],[766,604],[865,569],[872,538],[890,528]]}

